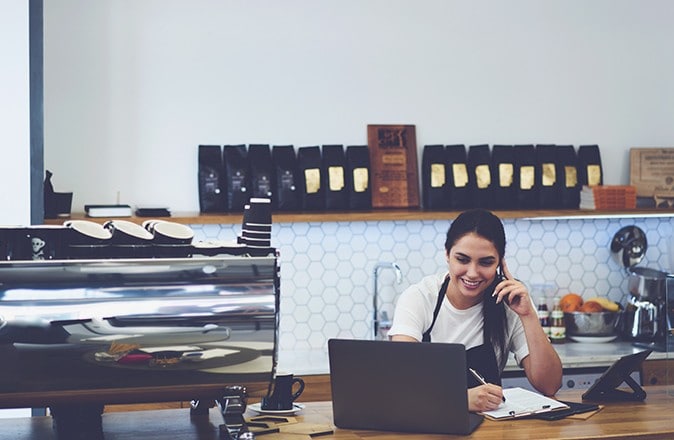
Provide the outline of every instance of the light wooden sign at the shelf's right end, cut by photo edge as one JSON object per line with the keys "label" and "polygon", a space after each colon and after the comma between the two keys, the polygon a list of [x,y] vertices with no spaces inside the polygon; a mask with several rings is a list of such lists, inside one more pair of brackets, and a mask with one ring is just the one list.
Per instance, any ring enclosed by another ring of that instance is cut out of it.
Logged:
{"label": "light wooden sign at the shelf's right end, cut by photo edge", "polygon": [[630,185],[637,197],[674,197],[674,148],[631,148]]}

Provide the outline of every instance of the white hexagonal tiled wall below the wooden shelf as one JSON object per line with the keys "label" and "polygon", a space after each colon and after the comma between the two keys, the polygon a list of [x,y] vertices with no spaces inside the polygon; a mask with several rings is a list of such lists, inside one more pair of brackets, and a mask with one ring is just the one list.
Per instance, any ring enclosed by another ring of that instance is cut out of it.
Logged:
{"label": "white hexagonal tiled wall below the wooden shelf", "polygon": [[[324,350],[332,337],[373,337],[374,267],[395,262],[403,272],[379,270],[380,310],[392,316],[397,295],[423,276],[445,270],[449,221],[281,223],[272,246],[281,259],[280,350]],[[623,226],[644,230],[648,251],[641,266],[670,269],[674,217],[504,220],[508,266],[537,298],[577,292],[623,302],[625,271],[609,244]],[[233,240],[237,225],[192,225],[195,240]]]}

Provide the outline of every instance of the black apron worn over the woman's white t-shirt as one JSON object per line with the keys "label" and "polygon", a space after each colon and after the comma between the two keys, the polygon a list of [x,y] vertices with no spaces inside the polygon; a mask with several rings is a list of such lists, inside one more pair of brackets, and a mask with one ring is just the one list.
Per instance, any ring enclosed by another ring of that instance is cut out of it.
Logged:
{"label": "black apron worn over the woman's white t-shirt", "polygon": [[[446,277],[438,292],[438,300],[435,303],[435,310],[433,310],[433,321],[431,321],[431,326],[428,330],[424,332],[421,342],[431,342],[431,330],[433,330],[435,321],[438,318],[438,313],[440,313],[440,307],[445,298],[445,291],[447,290],[448,284],[449,277]],[[468,368],[472,368],[480,373],[488,383],[501,386],[501,373],[498,368],[494,347],[486,341],[483,342],[482,345],[466,350],[466,379],[468,388],[474,388],[481,385],[481,383],[468,371]]]}

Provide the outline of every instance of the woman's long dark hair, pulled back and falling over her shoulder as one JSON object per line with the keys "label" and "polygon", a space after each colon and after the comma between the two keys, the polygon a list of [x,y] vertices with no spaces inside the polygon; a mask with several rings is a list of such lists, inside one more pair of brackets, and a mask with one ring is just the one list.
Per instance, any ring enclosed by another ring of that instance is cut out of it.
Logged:
{"label": "woman's long dark hair, pulled back and falling over her shoulder", "polygon": [[[449,254],[454,244],[466,234],[474,233],[492,242],[499,255],[499,268],[505,255],[505,230],[501,219],[485,209],[471,209],[461,213],[450,225],[445,240],[445,250]],[[503,302],[496,304],[492,299],[494,288],[501,281],[498,276],[494,283],[484,292],[482,319],[484,321],[484,340],[490,341],[492,346],[501,354],[501,359],[506,356],[505,334],[507,322],[505,306]],[[499,366],[500,367],[500,366]]]}

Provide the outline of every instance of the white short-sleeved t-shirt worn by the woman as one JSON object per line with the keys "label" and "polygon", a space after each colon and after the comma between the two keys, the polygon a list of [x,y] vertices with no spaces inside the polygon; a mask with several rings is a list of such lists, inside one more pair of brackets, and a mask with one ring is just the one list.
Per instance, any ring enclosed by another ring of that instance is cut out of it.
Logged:
{"label": "white short-sleeved t-shirt worn by the woman", "polygon": [[[433,311],[438,300],[438,293],[447,274],[438,274],[424,277],[400,295],[393,313],[393,325],[388,332],[389,336],[406,335],[421,341],[423,333],[433,322]],[[506,320],[506,348],[515,355],[518,365],[529,355],[529,347],[524,335],[524,327],[517,313],[505,306]],[[438,317],[431,330],[432,342],[451,342],[466,346],[466,350],[482,345],[482,303],[459,310],[445,296],[442,300]],[[500,371],[503,371],[508,359],[501,359],[498,350],[496,353]]]}

